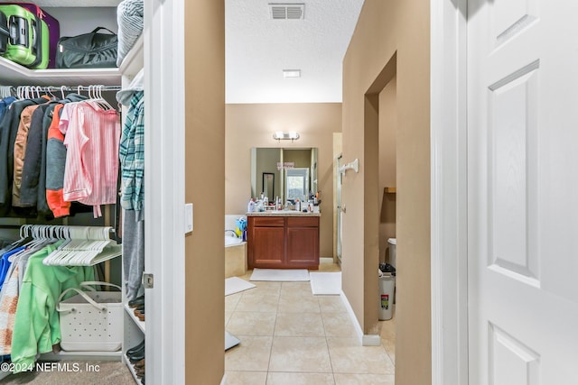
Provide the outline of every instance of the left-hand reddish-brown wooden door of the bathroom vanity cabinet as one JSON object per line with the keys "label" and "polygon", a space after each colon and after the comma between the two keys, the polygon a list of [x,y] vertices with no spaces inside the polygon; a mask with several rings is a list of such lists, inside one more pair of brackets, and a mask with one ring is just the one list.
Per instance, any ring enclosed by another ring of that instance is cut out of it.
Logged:
{"label": "left-hand reddish-brown wooden door of the bathroom vanity cabinet", "polygon": [[283,263],[283,227],[254,227],[253,241],[253,258],[249,260],[249,269],[275,268]]}

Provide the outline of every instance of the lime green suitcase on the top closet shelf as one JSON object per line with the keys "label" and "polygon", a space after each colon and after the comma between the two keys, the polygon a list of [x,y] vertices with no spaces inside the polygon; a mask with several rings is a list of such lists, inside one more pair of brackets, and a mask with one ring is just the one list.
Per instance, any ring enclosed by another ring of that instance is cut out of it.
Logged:
{"label": "lime green suitcase on the top closet shelf", "polygon": [[4,57],[30,69],[46,69],[49,60],[48,26],[20,5],[0,5],[8,20],[10,38]]}

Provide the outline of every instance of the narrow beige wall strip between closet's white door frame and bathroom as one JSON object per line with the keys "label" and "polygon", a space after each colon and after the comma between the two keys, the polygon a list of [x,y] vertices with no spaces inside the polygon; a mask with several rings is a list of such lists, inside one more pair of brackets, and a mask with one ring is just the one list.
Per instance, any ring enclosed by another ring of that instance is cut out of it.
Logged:
{"label": "narrow beige wall strip between closet's white door frame and bathroom", "polygon": [[188,384],[218,384],[225,371],[224,3],[187,2],[185,13],[185,200],[194,203],[195,222],[185,238],[185,376]]}

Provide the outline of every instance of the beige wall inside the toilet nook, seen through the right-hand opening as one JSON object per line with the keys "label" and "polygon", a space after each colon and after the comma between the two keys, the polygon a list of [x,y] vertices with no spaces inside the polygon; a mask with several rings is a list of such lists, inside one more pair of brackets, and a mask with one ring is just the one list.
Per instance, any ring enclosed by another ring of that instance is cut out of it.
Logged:
{"label": "beige wall inside the toilet nook, seen through the right-hand opening", "polygon": [[379,261],[388,261],[388,238],[396,237],[396,77],[379,93]]}

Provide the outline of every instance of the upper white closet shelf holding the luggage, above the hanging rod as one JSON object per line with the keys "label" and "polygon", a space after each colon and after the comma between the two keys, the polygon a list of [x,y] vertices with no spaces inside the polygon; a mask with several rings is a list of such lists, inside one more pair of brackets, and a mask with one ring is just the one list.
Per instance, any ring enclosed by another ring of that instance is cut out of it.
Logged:
{"label": "upper white closet shelf holding the luggage, above the hanging rod", "polygon": [[27,69],[0,58],[0,78],[10,82],[4,86],[117,86],[121,73],[119,69]]}

